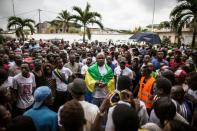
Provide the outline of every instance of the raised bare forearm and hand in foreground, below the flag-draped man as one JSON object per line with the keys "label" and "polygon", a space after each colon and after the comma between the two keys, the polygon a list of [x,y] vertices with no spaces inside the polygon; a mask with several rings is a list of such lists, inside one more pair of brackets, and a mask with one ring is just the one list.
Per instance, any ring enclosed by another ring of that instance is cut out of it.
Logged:
{"label": "raised bare forearm and hand in foreground, below the flag-draped man", "polygon": [[110,106],[110,98],[112,97],[113,94],[108,94],[107,97],[103,100],[101,106],[99,107],[100,112],[104,113]]}

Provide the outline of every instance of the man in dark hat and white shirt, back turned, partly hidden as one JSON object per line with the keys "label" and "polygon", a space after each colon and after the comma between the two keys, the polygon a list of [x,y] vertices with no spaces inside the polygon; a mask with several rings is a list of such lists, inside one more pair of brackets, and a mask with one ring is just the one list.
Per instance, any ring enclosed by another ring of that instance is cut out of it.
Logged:
{"label": "man in dark hat and white shirt, back turned, partly hidden", "polygon": [[[88,103],[84,100],[86,90],[86,84],[83,79],[76,78],[72,83],[68,85],[68,91],[71,93],[73,99],[76,99],[82,105],[82,108],[84,110],[86,124],[84,125],[83,131],[91,131],[96,116],[100,111],[96,105]],[[60,128],[61,124],[59,114],[62,108],[63,106],[61,106],[58,111],[58,125],[60,126]]]}

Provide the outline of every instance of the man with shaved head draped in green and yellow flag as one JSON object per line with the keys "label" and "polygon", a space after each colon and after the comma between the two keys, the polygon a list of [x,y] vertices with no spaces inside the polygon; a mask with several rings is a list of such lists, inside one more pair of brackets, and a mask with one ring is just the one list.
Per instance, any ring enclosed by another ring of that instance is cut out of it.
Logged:
{"label": "man with shaved head draped in green and yellow flag", "polygon": [[98,53],[96,63],[88,68],[85,82],[92,93],[93,104],[100,106],[109,92],[114,90],[114,77],[112,69],[105,64],[104,53]]}

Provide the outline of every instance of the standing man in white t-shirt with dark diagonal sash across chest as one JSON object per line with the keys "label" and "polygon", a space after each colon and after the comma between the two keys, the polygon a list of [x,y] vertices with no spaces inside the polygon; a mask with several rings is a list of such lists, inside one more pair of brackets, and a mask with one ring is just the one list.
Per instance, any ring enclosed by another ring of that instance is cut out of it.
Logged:
{"label": "standing man in white t-shirt with dark diagonal sash across chest", "polygon": [[67,85],[72,76],[72,71],[69,68],[64,67],[62,58],[57,58],[57,68],[53,71],[53,78],[56,80],[56,99],[55,110],[69,100],[69,94],[67,92]]}

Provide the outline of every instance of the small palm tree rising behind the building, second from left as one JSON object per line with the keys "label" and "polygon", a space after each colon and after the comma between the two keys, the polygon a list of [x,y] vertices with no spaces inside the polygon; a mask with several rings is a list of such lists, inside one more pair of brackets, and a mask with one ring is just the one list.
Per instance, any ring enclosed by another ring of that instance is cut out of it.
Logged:
{"label": "small palm tree rising behind the building, second from left", "polygon": [[71,19],[72,19],[72,17],[70,15],[70,13],[67,10],[62,10],[62,12],[59,13],[59,16],[57,16],[57,19],[54,21],[59,26],[63,27],[64,32],[65,31],[68,32]]}

